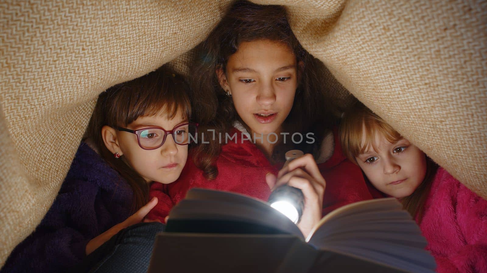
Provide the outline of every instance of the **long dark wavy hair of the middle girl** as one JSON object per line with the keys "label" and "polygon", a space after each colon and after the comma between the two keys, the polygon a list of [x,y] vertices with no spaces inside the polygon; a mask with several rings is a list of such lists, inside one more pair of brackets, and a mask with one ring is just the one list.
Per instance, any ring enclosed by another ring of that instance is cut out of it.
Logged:
{"label": "long dark wavy hair of the middle girl", "polygon": [[[209,144],[200,144],[194,153],[195,164],[204,170],[207,179],[214,179],[218,170],[213,165],[220,153],[221,144],[211,141],[212,137],[206,129],[214,129],[216,133],[229,132],[235,121],[240,121],[231,97],[225,95],[215,70],[225,66],[230,55],[237,52],[240,43],[258,39],[286,44],[296,55],[299,83],[296,95],[282,128],[287,132],[313,132],[317,141],[313,145],[292,147],[304,152],[311,152],[319,145],[326,132],[330,130],[336,119],[332,114],[332,105],[324,99],[322,90],[325,86],[318,76],[323,69],[322,63],[302,48],[286,18],[284,7],[277,5],[258,5],[248,1],[235,2],[199,47],[199,59],[193,67],[191,81],[191,101],[197,122]],[[204,98],[204,99],[203,99]],[[325,109],[325,110],[323,110]],[[283,161],[284,153],[290,147],[280,144],[273,150],[272,159]]]}

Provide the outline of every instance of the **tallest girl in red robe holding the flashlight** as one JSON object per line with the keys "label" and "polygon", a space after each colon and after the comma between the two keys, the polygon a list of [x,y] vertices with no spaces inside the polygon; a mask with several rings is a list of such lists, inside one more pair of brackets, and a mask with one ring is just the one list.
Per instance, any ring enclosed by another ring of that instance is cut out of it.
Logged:
{"label": "tallest girl in red robe holding the flashlight", "polygon": [[[303,192],[298,226],[306,236],[323,214],[380,197],[341,153],[322,64],[301,47],[283,7],[237,2],[199,49],[191,91],[201,98],[193,109],[209,143],[178,181],[151,186],[151,195],[169,193],[171,202],[159,202],[149,218],[163,220],[191,187],[267,200],[270,187],[287,183]],[[291,149],[308,154],[282,168]]]}

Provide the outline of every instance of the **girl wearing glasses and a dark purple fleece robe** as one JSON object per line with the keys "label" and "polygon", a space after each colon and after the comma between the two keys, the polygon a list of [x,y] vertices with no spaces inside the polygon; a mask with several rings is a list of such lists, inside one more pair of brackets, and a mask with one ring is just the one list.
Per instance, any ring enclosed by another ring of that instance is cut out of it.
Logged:
{"label": "girl wearing glasses and a dark purple fleece robe", "polygon": [[161,68],[101,93],[54,204],[1,272],[67,272],[73,266],[87,272],[94,265],[94,271],[116,272],[105,268],[116,264],[147,272],[153,239],[164,225],[145,217],[158,201],[170,201],[149,199],[149,185],[179,177],[189,134],[196,133],[187,89],[181,76]]}

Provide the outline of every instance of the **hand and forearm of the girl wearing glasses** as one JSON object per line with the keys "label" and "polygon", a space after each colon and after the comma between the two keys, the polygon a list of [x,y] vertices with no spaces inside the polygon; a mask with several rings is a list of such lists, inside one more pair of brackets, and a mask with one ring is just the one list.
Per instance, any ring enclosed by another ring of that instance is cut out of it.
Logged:
{"label": "hand and forearm of the girl wearing glasses", "polygon": [[[141,207],[138,211],[132,214],[129,218],[125,221],[114,225],[111,229],[105,231],[104,233],[98,235],[91,239],[88,244],[86,244],[86,255],[92,253],[95,249],[99,246],[104,244],[106,241],[110,240],[113,235],[117,234],[122,229],[129,227],[131,225],[140,223],[146,215],[150,212],[150,210],[157,204],[157,197],[152,198],[146,205]],[[144,220],[145,221],[145,220]],[[151,220],[149,220],[151,221]],[[159,221],[160,222],[160,221]]]}

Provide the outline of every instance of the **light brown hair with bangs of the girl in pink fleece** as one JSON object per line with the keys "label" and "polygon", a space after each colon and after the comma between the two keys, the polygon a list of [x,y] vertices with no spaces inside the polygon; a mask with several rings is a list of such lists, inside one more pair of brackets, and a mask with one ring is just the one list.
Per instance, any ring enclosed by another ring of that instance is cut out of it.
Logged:
{"label": "light brown hair with bangs of the girl in pink fleece", "polygon": [[[377,148],[374,142],[376,133],[384,135],[390,143],[396,143],[403,138],[401,134],[373,111],[362,103],[356,102],[353,107],[344,113],[340,123],[340,144],[345,156],[351,162],[357,164],[355,157],[363,153],[368,146],[372,146],[376,151]],[[365,134],[364,144],[361,143],[362,134]],[[400,199],[403,208],[412,217],[417,216],[419,221],[421,221],[423,215],[422,208],[430,192],[431,182],[438,169],[438,165],[431,158],[427,156],[426,159],[426,175],[423,182],[421,182],[410,196]]]}

